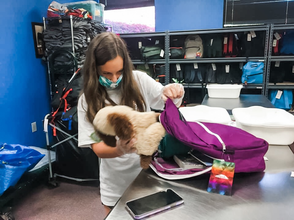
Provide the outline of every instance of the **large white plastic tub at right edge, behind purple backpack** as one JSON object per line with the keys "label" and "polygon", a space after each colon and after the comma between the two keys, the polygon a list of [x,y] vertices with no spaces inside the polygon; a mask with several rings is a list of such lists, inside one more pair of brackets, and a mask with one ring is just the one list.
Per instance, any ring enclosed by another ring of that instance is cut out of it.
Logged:
{"label": "large white plastic tub at right edge, behind purple backpack", "polygon": [[294,116],[279,108],[251,106],[234,108],[236,127],[247,131],[270,145],[289,145],[294,142]]}

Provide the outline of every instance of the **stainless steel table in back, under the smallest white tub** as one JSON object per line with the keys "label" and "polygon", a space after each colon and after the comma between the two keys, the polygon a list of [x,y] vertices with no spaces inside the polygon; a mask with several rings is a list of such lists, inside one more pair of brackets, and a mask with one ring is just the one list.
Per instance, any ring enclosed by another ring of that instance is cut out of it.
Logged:
{"label": "stainless steel table in back, under the smallest white tub", "polygon": [[210,107],[225,108],[232,115],[233,108],[246,108],[259,105],[266,108],[275,108],[275,106],[264,95],[240,94],[239,98],[209,98],[205,95],[201,105]]}

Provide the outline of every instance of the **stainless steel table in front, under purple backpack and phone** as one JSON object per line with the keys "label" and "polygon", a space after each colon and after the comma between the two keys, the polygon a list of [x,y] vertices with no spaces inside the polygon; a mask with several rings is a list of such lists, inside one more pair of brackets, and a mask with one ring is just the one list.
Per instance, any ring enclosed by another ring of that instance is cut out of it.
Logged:
{"label": "stainless steel table in front, under purple backpack and phone", "polygon": [[265,172],[235,174],[232,196],[208,193],[209,174],[170,181],[151,169],[141,171],[105,219],[133,219],[125,209],[126,201],[166,188],[179,193],[184,204],[144,219],[293,219],[294,154],[289,146],[271,145],[266,157]]}

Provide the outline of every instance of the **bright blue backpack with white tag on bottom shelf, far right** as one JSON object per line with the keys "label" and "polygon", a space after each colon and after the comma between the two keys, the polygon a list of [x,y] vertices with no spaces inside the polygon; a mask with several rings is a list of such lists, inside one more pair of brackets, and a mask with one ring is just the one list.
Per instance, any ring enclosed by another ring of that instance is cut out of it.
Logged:
{"label": "bright blue backpack with white tag on bottom shelf, far right", "polygon": [[293,105],[293,93],[292,90],[281,90],[282,95],[278,99],[276,98],[279,90],[271,90],[269,92],[269,100],[276,108],[290,110]]}

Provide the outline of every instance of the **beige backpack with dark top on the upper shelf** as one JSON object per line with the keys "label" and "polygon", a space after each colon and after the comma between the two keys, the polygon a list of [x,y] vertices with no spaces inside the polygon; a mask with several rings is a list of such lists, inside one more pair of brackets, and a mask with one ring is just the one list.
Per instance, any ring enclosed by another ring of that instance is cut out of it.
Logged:
{"label": "beige backpack with dark top on the upper shelf", "polygon": [[185,59],[203,57],[203,42],[198,34],[188,35],[185,39]]}

